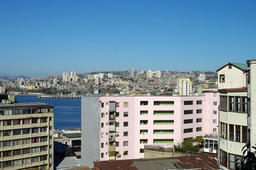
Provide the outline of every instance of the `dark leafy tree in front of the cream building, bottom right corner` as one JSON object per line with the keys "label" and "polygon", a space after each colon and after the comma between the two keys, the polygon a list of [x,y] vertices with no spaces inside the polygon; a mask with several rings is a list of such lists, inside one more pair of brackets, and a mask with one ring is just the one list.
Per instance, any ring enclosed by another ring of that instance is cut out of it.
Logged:
{"label": "dark leafy tree in front of the cream building, bottom right corner", "polygon": [[[255,151],[250,150],[250,145],[246,144],[243,148],[243,158],[236,159],[236,169],[256,169],[256,147],[252,146]],[[246,154],[246,155],[245,155]]]}

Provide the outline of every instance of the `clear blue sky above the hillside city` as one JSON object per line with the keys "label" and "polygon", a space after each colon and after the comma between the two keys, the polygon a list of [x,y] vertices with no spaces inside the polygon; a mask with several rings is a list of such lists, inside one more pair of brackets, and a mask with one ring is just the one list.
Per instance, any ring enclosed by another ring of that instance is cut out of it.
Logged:
{"label": "clear blue sky above the hillside city", "polygon": [[214,71],[256,58],[256,1],[0,1],[0,75]]}

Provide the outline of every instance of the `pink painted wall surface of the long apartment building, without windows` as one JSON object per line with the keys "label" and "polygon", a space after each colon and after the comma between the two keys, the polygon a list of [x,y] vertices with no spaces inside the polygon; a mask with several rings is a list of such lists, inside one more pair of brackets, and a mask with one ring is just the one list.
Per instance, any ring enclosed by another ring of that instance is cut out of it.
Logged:
{"label": "pink painted wall surface of the long apartment building, without windows", "polygon": [[[119,117],[116,122],[119,122],[119,127],[116,127],[116,132],[119,132],[119,137],[116,141],[119,146],[116,151],[119,151],[121,157],[118,159],[143,158],[144,154],[140,153],[140,149],[144,148],[145,144],[140,143],[140,139],[148,139],[147,144],[154,144],[154,139],[173,139],[173,143],[182,143],[184,138],[196,137],[212,132],[212,128],[218,125],[218,104],[213,105],[213,102],[218,101],[216,93],[205,93],[201,97],[100,97],[100,101],[104,102],[104,107],[100,107],[100,113],[104,112],[105,117],[101,118],[100,123],[104,123],[104,128],[100,128],[100,134],[104,133],[104,138],[100,138],[100,143],[104,143],[104,148],[100,148],[100,153],[104,153],[104,158],[100,160],[108,160],[108,105],[106,102],[119,102],[120,107],[116,107],[116,112],[119,112]],[[185,100],[193,100],[193,105],[184,105]],[[202,100],[202,105],[196,105],[196,100]],[[140,101],[148,101],[148,105],[140,105]],[[174,105],[154,105],[154,101],[174,101]],[[124,102],[129,103],[129,107],[124,107]],[[184,115],[184,110],[192,110],[193,114]],[[201,114],[196,114],[196,109],[202,109]],[[174,111],[173,115],[154,115],[154,111]],[[217,114],[213,114],[213,110]],[[140,111],[148,111],[148,115],[140,115]],[[128,112],[128,117],[124,117],[124,112]],[[202,123],[196,123],[196,118],[202,118]],[[184,120],[193,119],[193,123],[184,124]],[[216,119],[216,123],[213,123]],[[147,125],[140,125],[140,120],[148,120]],[[154,120],[174,120],[173,125],[154,125]],[[128,127],[124,127],[124,121],[128,121]],[[201,132],[196,132],[196,127],[202,127]],[[193,128],[193,132],[184,134],[184,128]],[[140,134],[140,130],[148,130],[148,134]],[[156,129],[173,129],[173,134],[154,134]],[[128,132],[128,136],[124,137],[124,132]],[[217,128],[218,131],[218,128]],[[100,135],[99,134],[99,135]],[[124,146],[124,141],[128,141],[128,146]],[[124,156],[124,150],[128,150],[128,155]],[[99,153],[99,154],[100,154]]]}

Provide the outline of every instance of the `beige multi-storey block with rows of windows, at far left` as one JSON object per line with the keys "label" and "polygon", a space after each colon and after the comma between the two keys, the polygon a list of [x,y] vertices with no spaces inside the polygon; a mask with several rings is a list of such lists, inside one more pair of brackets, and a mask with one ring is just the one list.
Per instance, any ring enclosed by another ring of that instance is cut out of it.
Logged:
{"label": "beige multi-storey block with rows of windows, at far left", "polygon": [[53,107],[0,105],[0,169],[53,169]]}

